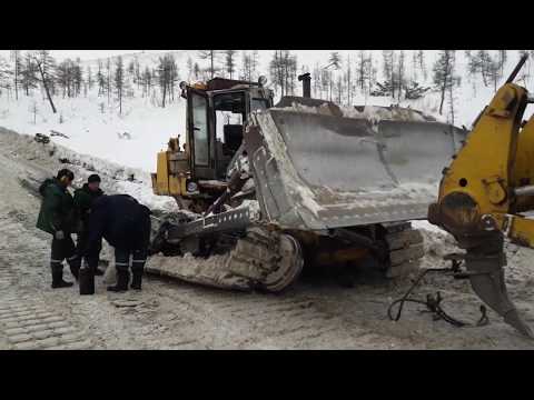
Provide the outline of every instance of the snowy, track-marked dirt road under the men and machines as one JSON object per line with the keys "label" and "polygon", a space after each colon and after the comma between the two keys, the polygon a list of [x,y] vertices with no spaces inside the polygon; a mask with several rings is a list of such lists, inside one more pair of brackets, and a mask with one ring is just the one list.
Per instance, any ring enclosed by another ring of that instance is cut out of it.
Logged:
{"label": "snowy, track-marked dirt road under the men and machines", "polygon": [[[21,179],[57,170],[56,156],[31,138],[0,130],[0,349],[533,349],[490,312],[490,324],[455,328],[406,306],[392,322],[386,310],[409,281],[366,274],[350,289],[333,280],[298,282],[279,296],[236,293],[147,277],[142,292],[95,296],[78,287],[52,290],[49,236],[34,228],[40,200]],[[46,156],[42,156],[46,154]],[[30,177],[30,178],[29,178]],[[102,182],[106,188],[106,181]],[[424,264],[443,266],[453,250],[425,233]],[[508,247],[507,280],[517,307],[534,322],[533,251]],[[67,279],[71,277],[66,268]],[[441,290],[444,308],[475,321],[478,299],[466,281],[428,277],[421,297]]]}

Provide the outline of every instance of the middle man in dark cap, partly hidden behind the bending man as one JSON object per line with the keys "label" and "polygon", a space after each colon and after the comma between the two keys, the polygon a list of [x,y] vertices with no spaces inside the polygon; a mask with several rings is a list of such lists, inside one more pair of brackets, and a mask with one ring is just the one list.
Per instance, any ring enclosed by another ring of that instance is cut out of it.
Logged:
{"label": "middle man in dark cap, partly hidden behind the bending man", "polygon": [[[91,174],[87,179],[87,183],[83,183],[81,189],[77,189],[75,191],[75,208],[77,210],[77,214],[80,219],[80,229],[78,231],[78,240],[76,246],[76,252],[80,258],[80,262],[82,259],[83,249],[87,247],[87,236],[88,236],[88,226],[89,226],[89,214],[92,209],[92,204],[95,200],[97,200],[100,196],[103,194],[103,191],[100,189],[100,177],[98,174]],[[98,253],[102,249],[101,241],[98,243]],[[95,263],[92,263],[95,264]],[[96,260],[96,264],[98,266],[98,259]],[[98,268],[95,269],[96,276],[103,274]]]}

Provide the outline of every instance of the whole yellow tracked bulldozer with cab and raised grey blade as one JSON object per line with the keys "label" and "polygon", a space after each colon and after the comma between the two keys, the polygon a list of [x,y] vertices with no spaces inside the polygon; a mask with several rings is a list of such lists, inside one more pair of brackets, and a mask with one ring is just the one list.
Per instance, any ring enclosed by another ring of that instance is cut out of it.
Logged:
{"label": "whole yellow tracked bulldozer with cab and raised grey blade", "polygon": [[157,154],[154,192],[177,211],[158,222],[149,273],[280,292],[303,268],[414,271],[442,166],[466,132],[399,107],[344,108],[258,82],[181,82],[186,134]]}

